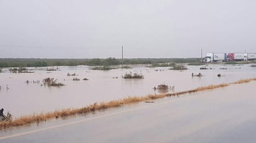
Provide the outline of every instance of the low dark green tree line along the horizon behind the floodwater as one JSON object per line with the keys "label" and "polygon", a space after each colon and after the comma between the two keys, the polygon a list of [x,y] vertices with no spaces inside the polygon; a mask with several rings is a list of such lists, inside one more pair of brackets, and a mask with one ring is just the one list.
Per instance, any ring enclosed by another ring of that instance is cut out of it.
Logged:
{"label": "low dark green tree line along the horizon behind the floodwater", "polygon": [[94,59],[40,59],[40,58],[0,58],[0,67],[45,67],[45,66],[114,66],[120,64],[158,63],[199,63],[199,58],[94,58]]}

